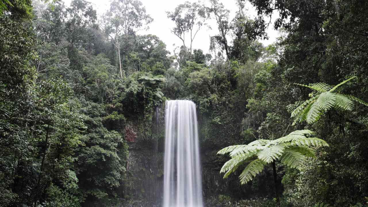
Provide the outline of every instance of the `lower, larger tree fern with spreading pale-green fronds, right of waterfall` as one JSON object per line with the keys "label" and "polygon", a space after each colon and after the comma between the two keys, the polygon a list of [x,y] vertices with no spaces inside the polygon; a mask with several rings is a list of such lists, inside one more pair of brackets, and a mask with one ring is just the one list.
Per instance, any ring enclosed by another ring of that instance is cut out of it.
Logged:
{"label": "lower, larger tree fern with spreading pale-green fronds, right of waterfall", "polygon": [[311,130],[293,131],[287,136],[276,140],[256,140],[249,144],[225,147],[217,154],[229,153],[231,159],[221,168],[224,178],[233,173],[238,167],[250,162],[239,176],[242,184],[252,180],[267,164],[280,160],[291,168],[304,169],[308,157],[315,157],[311,147],[328,147],[319,138],[313,137]]}

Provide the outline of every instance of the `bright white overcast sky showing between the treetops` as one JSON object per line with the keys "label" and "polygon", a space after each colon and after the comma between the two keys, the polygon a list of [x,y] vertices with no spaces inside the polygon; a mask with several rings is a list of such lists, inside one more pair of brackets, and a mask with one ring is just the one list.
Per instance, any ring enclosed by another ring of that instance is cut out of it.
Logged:
{"label": "bright white overcast sky showing between the treetops", "polygon": [[[102,15],[109,8],[110,1],[108,0],[87,0],[92,3],[93,7],[97,10],[98,15]],[[179,4],[183,4],[186,0],[141,0],[143,6],[146,7],[146,13],[151,15],[153,22],[149,25],[148,31],[140,31],[139,34],[152,34],[158,36],[165,44],[167,50],[173,54],[173,50],[176,46],[181,46],[181,40],[171,33],[170,29],[174,27],[174,22],[167,18],[166,11],[174,11]],[[198,0],[188,0],[190,2],[196,2]],[[235,12],[238,10],[235,0],[219,0],[224,4],[225,8],[230,10],[230,20],[235,16]],[[70,5],[71,0],[64,0],[65,6]],[[246,3],[245,8],[248,9],[247,14],[251,19],[257,15],[254,7],[249,2]],[[274,14],[276,16],[276,14]],[[218,33],[215,20],[208,20],[208,25],[212,30],[207,27],[202,27],[193,41],[193,49],[202,49],[204,53],[209,53],[209,36],[213,36]],[[263,45],[267,46],[270,43],[276,41],[278,32],[273,30],[273,22],[268,28],[268,40],[259,40]],[[173,46],[175,44],[175,46]],[[189,46],[189,43],[185,43]]]}

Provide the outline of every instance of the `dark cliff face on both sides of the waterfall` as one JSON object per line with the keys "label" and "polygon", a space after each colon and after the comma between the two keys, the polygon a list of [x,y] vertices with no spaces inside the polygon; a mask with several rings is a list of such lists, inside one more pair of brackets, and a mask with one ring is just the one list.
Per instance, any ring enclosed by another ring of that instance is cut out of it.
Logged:
{"label": "dark cliff face on both sides of the waterfall", "polygon": [[[208,119],[200,119],[199,127],[208,125]],[[163,199],[163,158],[164,158],[164,106],[156,109],[152,118],[150,139],[139,137],[135,126],[128,132],[129,159],[125,178],[124,200],[121,206],[161,206]],[[238,176],[241,169],[223,179],[220,169],[228,160],[226,156],[217,155],[222,148],[208,139],[204,140],[204,131],[199,129],[202,184],[204,201],[221,200],[223,196],[233,199],[250,199],[272,194],[271,171],[264,171],[247,185],[240,185]],[[137,137],[134,137],[137,134]],[[126,135],[127,136],[127,135]],[[221,137],[213,137],[220,143]],[[220,202],[220,201],[219,201]]]}

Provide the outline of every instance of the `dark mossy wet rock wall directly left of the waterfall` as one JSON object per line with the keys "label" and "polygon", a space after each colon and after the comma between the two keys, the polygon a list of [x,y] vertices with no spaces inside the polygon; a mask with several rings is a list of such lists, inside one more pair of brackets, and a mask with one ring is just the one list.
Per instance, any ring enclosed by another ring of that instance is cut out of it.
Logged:
{"label": "dark mossy wet rock wall directly left of the waterfall", "polygon": [[163,147],[160,147],[164,141],[162,112],[155,110],[149,140],[141,137],[136,125],[125,127],[129,158],[121,206],[160,206],[163,197]]}

